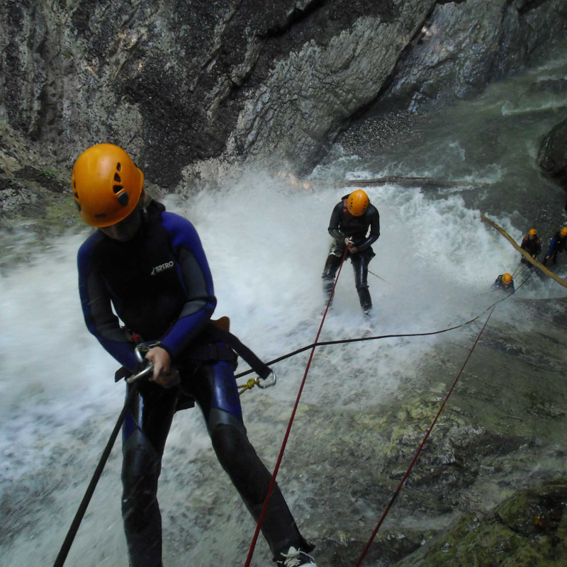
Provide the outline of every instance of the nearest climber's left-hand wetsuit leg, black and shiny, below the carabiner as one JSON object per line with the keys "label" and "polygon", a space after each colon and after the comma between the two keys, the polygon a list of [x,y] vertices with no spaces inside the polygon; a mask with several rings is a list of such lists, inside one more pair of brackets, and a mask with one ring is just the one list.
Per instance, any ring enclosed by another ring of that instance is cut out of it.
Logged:
{"label": "nearest climber's left-hand wetsuit leg, black and shiny, below the carabiner", "polygon": [[122,428],[122,516],[130,567],[162,566],[157,479],[177,395],[177,388],[140,384]]}

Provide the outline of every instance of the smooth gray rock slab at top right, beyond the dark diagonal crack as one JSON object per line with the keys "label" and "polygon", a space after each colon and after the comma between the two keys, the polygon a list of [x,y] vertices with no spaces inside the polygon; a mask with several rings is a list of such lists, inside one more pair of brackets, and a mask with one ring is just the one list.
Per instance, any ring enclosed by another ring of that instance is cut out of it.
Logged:
{"label": "smooth gray rock slab at top right, beyond the dark diagonal crack", "polygon": [[566,32],[561,0],[437,2],[376,106],[415,110],[472,99],[551,52]]}

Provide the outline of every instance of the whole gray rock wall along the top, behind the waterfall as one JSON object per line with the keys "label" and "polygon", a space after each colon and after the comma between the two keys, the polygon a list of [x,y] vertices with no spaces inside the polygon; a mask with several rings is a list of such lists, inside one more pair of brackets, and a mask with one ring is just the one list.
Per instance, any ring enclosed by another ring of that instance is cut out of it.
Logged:
{"label": "whole gray rock wall along the top, behind the waterfall", "polygon": [[379,97],[473,96],[567,30],[562,0],[6,0],[0,18],[0,119],[55,167],[115,142],[169,189],[249,157],[309,169]]}

